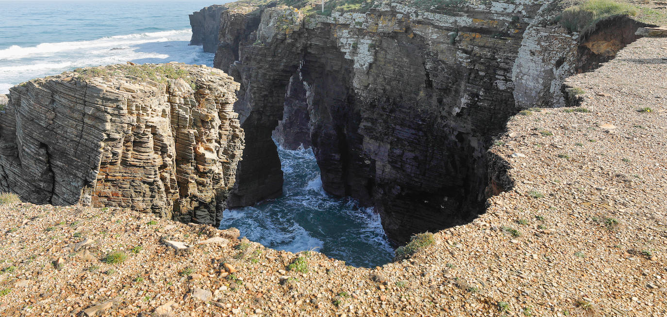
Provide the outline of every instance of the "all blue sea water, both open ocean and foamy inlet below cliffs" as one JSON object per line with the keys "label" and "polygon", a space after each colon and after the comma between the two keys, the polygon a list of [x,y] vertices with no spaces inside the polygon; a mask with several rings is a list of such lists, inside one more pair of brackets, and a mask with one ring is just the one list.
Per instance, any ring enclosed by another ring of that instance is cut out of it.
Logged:
{"label": "all blue sea water, both open ocean and foamy inlet below cliffs", "polygon": [[[115,63],[213,65],[189,46],[188,15],[231,1],[0,0],[0,94],[29,79]],[[390,262],[394,250],[372,208],[322,189],[311,149],[279,148],[283,196],[225,210],[220,228],[270,248],[315,250],[354,266]]]}

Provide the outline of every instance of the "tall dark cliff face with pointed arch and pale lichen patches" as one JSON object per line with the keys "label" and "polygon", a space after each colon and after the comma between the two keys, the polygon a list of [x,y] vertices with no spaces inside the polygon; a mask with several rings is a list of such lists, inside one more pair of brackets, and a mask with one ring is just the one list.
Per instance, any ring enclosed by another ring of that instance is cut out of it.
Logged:
{"label": "tall dark cliff face with pointed arch and pale lichen patches", "polygon": [[555,1],[434,8],[222,13],[215,67],[241,83],[249,140],[233,206],[280,194],[273,133],[312,145],[325,190],[375,206],[398,242],[483,210],[502,190],[487,190],[490,140],[521,109],[562,103],[584,40],[550,22]]}

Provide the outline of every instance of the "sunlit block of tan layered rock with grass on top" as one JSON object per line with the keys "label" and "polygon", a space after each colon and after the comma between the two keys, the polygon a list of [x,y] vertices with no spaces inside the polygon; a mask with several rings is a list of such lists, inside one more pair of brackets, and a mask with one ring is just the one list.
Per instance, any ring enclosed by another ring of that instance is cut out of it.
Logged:
{"label": "sunlit block of tan layered rock with grass on top", "polygon": [[37,204],[122,206],[218,224],[243,151],[231,77],[112,65],[10,89],[0,190]]}

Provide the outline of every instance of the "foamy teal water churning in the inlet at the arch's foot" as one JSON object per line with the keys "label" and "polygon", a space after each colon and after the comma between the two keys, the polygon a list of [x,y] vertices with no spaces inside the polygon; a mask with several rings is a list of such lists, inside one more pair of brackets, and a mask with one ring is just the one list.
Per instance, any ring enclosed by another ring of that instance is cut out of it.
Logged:
{"label": "foamy teal water churning in the inlet at the arch's foot", "polygon": [[283,196],[244,208],[225,210],[221,229],[278,250],[315,249],[354,266],[390,262],[394,250],[373,208],[324,192],[313,151],[278,148],[285,173]]}

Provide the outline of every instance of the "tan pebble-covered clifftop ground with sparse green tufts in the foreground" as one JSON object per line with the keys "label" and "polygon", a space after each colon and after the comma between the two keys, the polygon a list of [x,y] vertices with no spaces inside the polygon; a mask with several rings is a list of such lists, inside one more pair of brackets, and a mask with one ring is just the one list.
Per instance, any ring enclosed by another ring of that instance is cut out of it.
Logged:
{"label": "tan pebble-covered clifftop ground with sparse green tufts in the foreground", "polygon": [[0,315],[666,316],[666,59],[667,39],[640,39],[568,79],[580,107],[514,117],[491,151],[516,186],[382,268],[131,210],[3,204]]}

